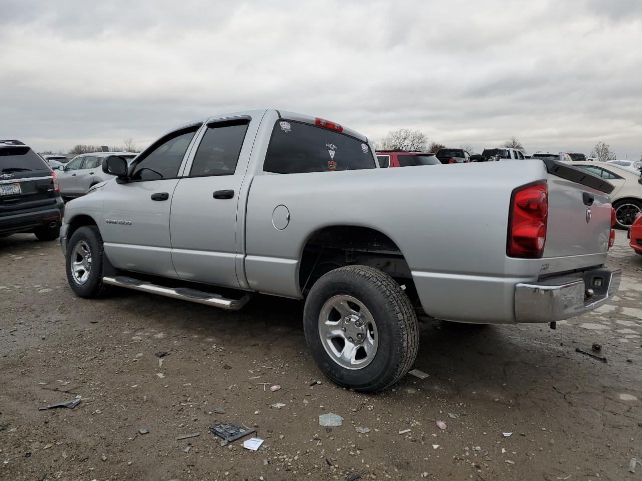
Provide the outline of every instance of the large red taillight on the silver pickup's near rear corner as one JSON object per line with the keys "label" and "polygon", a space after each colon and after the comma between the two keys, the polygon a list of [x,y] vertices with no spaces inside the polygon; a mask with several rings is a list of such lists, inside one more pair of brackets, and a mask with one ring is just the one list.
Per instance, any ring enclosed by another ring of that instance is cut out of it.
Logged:
{"label": "large red taillight on the silver pickup's near rear corner", "polygon": [[513,191],[508,215],[509,257],[541,258],[546,244],[548,190],[545,183]]}

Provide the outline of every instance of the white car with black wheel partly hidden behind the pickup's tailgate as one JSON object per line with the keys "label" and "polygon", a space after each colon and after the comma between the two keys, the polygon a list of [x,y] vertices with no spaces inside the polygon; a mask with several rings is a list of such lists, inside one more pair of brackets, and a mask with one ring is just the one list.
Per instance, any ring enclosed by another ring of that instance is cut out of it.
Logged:
{"label": "white car with black wheel partly hidden behind the pickup's tailgate", "polygon": [[628,229],[642,212],[642,178],[640,171],[612,162],[573,162],[573,167],[595,174],[615,185],[611,203],[615,209],[615,223]]}

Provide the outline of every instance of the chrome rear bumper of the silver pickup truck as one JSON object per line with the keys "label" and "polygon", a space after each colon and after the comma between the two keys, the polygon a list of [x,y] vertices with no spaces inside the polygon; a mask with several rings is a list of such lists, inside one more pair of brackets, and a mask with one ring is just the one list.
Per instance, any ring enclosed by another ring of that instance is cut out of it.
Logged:
{"label": "chrome rear bumper of the silver pickup truck", "polygon": [[593,269],[583,277],[519,283],[515,290],[515,319],[518,323],[550,323],[580,316],[611,299],[618,292],[621,276],[620,269]]}

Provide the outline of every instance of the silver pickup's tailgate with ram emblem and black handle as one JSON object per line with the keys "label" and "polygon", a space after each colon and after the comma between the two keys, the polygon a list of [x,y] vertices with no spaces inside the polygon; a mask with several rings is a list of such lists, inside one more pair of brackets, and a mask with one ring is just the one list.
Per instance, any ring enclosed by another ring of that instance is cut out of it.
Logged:
{"label": "silver pickup's tailgate with ram emblem and black handle", "polygon": [[546,162],[548,228],[544,258],[605,253],[611,233],[613,186],[559,162]]}

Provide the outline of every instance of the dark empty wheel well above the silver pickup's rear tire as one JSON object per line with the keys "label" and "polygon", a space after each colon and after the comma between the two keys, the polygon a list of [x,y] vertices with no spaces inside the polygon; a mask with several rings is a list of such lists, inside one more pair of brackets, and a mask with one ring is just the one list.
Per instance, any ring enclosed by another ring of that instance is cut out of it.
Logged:
{"label": "dark empty wheel well above the silver pickup's rear tire", "polygon": [[409,296],[414,292],[410,267],[397,244],[378,230],[358,226],[325,227],[309,237],[299,268],[301,292],[306,295],[323,274],[353,264],[376,267],[406,285]]}

